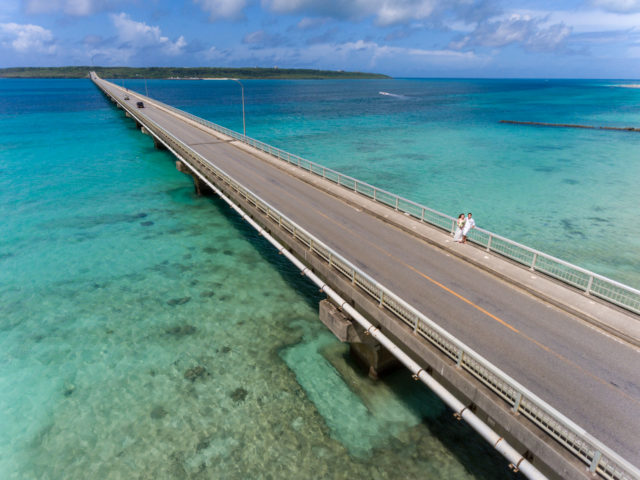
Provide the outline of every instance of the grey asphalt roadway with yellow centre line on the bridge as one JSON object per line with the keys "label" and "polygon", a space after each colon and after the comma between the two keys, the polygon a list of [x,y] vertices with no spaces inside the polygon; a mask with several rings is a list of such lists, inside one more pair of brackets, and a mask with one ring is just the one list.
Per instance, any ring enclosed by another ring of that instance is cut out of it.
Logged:
{"label": "grey asphalt roadway with yellow centre line on the bridge", "polygon": [[[113,96],[122,97],[113,85],[106,86]],[[131,102],[138,99],[134,92],[130,97]],[[148,103],[139,113],[180,138],[623,458],[640,465],[639,348],[310,186],[234,146],[234,142]]]}

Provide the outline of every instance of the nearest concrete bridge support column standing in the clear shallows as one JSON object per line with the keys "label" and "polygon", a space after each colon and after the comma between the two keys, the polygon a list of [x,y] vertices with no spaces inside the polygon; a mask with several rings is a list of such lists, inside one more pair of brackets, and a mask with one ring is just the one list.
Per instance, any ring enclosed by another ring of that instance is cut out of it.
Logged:
{"label": "nearest concrete bridge support column standing in the clear shallows", "polygon": [[351,322],[329,300],[320,302],[320,320],[338,340],[349,343],[351,355],[369,370],[370,378],[377,380],[379,375],[399,365],[396,357],[375,338],[367,335],[360,325]]}

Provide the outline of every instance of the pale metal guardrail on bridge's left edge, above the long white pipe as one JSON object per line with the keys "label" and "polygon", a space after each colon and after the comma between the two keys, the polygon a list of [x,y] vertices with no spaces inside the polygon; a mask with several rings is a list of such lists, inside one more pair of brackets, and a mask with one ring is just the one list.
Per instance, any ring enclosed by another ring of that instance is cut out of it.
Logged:
{"label": "pale metal guardrail on bridge's left edge, above the long white pipe", "polygon": [[[109,93],[107,94],[110,95]],[[113,97],[113,95],[110,96]],[[155,100],[150,101],[155,102]],[[209,163],[188,145],[174,137],[173,134],[150,119],[140,118],[138,112],[129,105],[123,104],[123,102],[119,103],[139,123],[145,125],[155,136],[159,137],[175,151],[180,152],[186,159],[193,162],[199,170],[203,173],[207,172],[218,181],[226,184],[248,203],[261,211],[268,219],[289,232],[289,234],[306,245],[312,252],[323,258],[330,267],[342,273],[342,275],[348,278],[354,285],[367,292],[381,307],[395,314],[401,321],[411,327],[416,334],[429,341],[454,361],[459,368],[473,375],[483,385],[507,402],[514,413],[525,416],[567,448],[588,466],[590,472],[597,473],[603,478],[610,480],[640,479],[640,470],[638,468],[584,431],[573,421],[566,418],[552,406],[548,405],[520,383],[484,359],[481,355],[450,335],[426,315],[416,310],[389,289],[359,270],[351,262],[334,252],[295,222],[288,219],[278,210],[272,208],[267,202],[243,187],[224,171]],[[179,110],[177,111],[180,112]],[[188,114],[188,116],[193,119],[192,115]]]}

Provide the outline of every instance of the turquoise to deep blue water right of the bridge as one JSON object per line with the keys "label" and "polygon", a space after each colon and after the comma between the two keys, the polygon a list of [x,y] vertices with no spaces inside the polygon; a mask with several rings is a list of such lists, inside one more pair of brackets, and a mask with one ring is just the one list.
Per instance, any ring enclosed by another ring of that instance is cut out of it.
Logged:
{"label": "turquoise to deep blue water right of the bridge", "polygon": [[[478,226],[640,288],[640,134],[499,123],[638,128],[630,84],[245,81],[247,135],[451,216],[473,211]],[[242,131],[234,82],[148,89]]]}

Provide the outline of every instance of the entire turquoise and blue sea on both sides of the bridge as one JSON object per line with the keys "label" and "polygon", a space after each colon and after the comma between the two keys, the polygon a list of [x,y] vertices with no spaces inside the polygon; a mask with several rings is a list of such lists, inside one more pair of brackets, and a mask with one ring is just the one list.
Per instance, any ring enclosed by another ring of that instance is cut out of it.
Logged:
{"label": "entire turquoise and blue sea on both sides of the bridge", "polygon": [[[626,83],[243,81],[249,136],[637,288],[640,134],[498,123],[638,127]],[[146,87],[242,129],[234,82]],[[511,478],[89,80],[0,80],[0,217],[0,478]]]}

